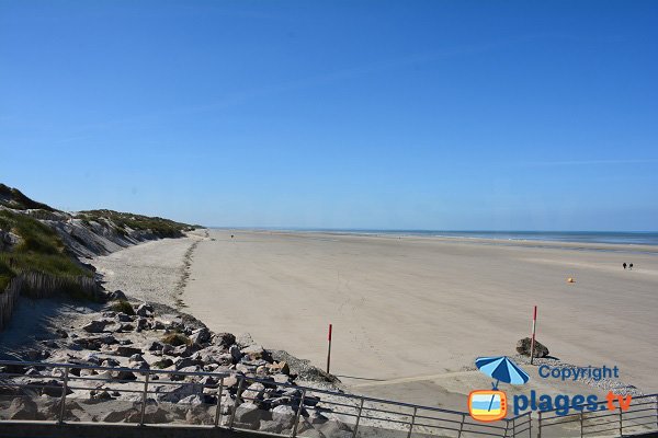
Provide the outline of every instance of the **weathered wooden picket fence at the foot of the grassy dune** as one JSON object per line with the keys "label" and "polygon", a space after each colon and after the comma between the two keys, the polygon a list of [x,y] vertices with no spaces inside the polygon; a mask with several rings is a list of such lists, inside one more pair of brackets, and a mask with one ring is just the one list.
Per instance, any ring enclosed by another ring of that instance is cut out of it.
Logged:
{"label": "weathered wooden picket fence at the foot of the grassy dune", "polygon": [[4,291],[0,291],[0,330],[9,323],[19,295],[41,299],[67,292],[73,298],[98,299],[102,288],[91,277],[53,277],[29,272],[13,278]]}

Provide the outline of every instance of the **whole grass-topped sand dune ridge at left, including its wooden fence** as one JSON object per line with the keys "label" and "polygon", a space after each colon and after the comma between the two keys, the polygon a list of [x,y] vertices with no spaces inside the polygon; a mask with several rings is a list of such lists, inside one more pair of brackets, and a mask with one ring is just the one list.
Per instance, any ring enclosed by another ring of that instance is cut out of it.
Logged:
{"label": "whole grass-topped sand dune ridge at left, including its wooden fence", "polygon": [[[0,184],[0,293],[30,295],[38,289],[38,298],[65,291],[98,300],[102,288],[90,281],[95,269],[82,258],[148,240],[183,237],[193,229],[168,219],[112,210],[60,211]],[[20,286],[11,287],[18,278]],[[4,297],[0,328],[15,299]]]}

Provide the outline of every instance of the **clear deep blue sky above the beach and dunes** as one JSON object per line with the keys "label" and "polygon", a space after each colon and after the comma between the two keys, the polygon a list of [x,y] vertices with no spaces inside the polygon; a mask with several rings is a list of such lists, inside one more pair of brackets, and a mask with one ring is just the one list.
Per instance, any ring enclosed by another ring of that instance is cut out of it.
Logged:
{"label": "clear deep blue sky above the beach and dunes", "polygon": [[206,226],[657,230],[657,1],[0,0],[0,182]]}

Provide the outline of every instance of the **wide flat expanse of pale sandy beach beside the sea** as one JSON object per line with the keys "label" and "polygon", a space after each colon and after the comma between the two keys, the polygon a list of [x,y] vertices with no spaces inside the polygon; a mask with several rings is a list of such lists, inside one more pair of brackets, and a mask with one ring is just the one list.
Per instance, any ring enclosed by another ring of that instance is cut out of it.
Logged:
{"label": "wide flat expanse of pale sandy beach beside the sea", "polygon": [[[354,392],[460,407],[454,404],[463,397],[447,395],[489,385],[472,371],[473,360],[514,355],[517,341],[529,335],[534,304],[537,338],[552,356],[577,366],[617,366],[623,382],[658,391],[651,372],[658,360],[658,255],[647,252],[650,246],[609,251],[609,245],[241,230],[189,239],[110,257],[120,265],[168,263],[162,273],[174,276],[182,254],[198,241],[182,293],[185,311],[213,331],[248,332],[269,348],[319,367],[332,323],[331,372]],[[624,261],[635,268],[624,270]],[[105,269],[118,272],[120,265]],[[126,287],[144,276],[123,272]],[[576,283],[567,284],[568,277]],[[172,295],[151,285],[141,297]],[[595,392],[538,379],[536,367],[529,371],[532,388]]]}

